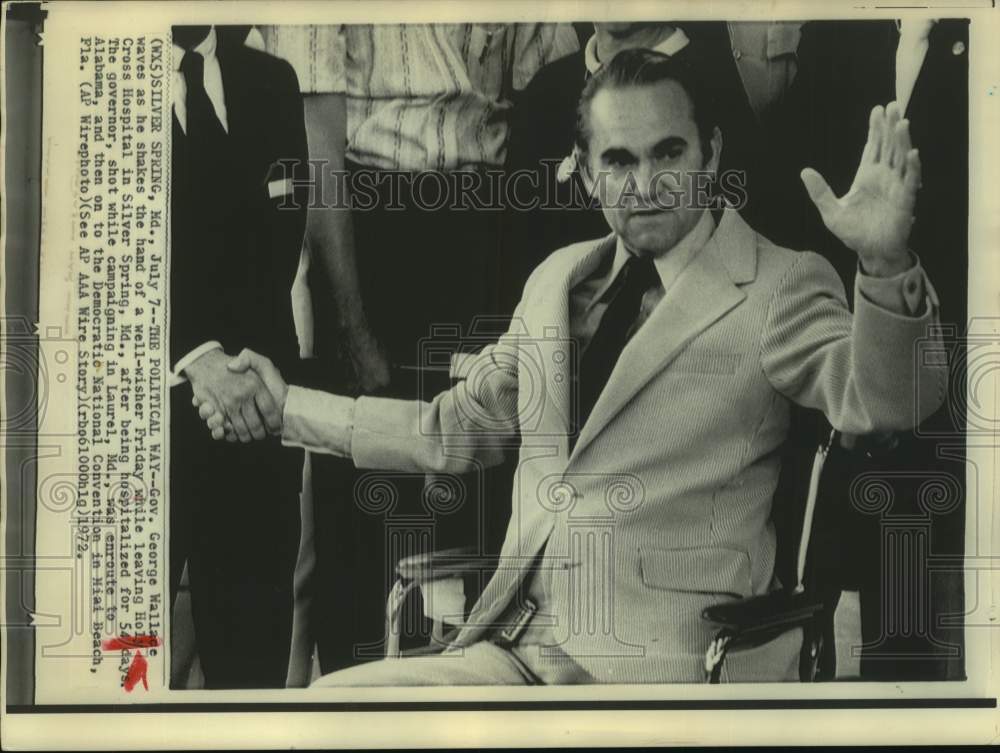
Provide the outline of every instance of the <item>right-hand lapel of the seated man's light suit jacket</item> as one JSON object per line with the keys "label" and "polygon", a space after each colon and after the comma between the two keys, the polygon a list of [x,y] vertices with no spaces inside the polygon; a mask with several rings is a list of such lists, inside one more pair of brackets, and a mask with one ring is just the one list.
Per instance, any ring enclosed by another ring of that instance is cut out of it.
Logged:
{"label": "right-hand lapel of the seated man's light suit jacket", "polygon": [[756,255],[753,231],[735,210],[728,210],[705,247],[625,346],[571,460],[688,342],[746,298],[735,283],[753,279]]}

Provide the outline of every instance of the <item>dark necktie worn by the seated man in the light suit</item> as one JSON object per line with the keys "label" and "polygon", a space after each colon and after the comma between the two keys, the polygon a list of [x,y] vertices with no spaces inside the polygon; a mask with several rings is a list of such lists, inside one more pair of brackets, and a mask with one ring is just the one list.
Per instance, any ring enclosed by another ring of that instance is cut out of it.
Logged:
{"label": "dark necktie worn by the seated man in the light suit", "polygon": [[[660,282],[652,259],[631,254],[620,275],[622,280],[618,294],[601,317],[601,323],[580,360],[577,426],[581,428],[587,423],[628,342],[632,326],[639,316],[643,295]],[[575,442],[575,437],[573,440]]]}

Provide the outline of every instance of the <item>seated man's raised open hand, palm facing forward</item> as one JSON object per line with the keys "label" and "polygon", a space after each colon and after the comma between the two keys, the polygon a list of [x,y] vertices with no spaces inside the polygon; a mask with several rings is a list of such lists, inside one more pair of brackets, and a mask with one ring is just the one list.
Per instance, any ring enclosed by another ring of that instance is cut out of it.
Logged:
{"label": "seated man's raised open hand, palm facing forward", "polygon": [[802,171],[802,182],[830,232],[858,254],[867,274],[891,277],[910,266],[920,157],[897,103],[872,109],[861,164],[844,196],[837,198],[812,168]]}

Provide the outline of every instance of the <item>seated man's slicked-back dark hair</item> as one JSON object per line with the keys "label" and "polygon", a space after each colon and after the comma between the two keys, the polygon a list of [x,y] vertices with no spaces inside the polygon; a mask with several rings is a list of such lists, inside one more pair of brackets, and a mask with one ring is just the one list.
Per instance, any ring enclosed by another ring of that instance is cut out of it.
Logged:
{"label": "seated man's slicked-back dark hair", "polygon": [[622,50],[590,77],[576,110],[575,142],[587,169],[590,145],[590,105],[603,89],[649,86],[661,81],[675,81],[691,100],[694,122],[698,127],[702,159],[712,156],[712,134],[719,125],[712,90],[694,68],[683,60],[653,50]]}

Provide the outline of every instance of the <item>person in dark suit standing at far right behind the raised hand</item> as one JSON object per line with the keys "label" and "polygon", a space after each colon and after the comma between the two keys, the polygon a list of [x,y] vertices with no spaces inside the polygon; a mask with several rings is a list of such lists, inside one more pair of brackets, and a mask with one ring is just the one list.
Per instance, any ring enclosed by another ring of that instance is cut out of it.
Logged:
{"label": "person in dark suit standing at far right behind the raised hand", "polygon": [[[786,161],[786,185],[794,189],[784,213],[786,242],[822,253],[848,280],[855,274],[856,261],[823,226],[797,174],[806,165],[813,166],[827,176],[834,193],[846,193],[855,155],[868,135],[869,111],[878,102],[899,103],[923,170],[910,247],[934,280],[955,374],[963,373],[964,353],[957,336],[965,332],[968,321],[968,45],[967,19],[806,23],[795,82],[768,134],[776,164]],[[953,391],[964,390],[960,385],[959,380]],[[864,679],[963,676],[961,628],[944,627],[941,622],[945,614],[964,611],[962,573],[930,577],[929,561],[901,566],[882,559],[887,556],[886,526],[892,525],[892,518],[907,517],[926,520],[931,554],[962,554],[964,494],[949,495],[933,512],[919,501],[923,496],[919,483],[928,474],[965,477],[964,438],[958,428],[964,424],[961,410],[952,402],[928,420],[921,436],[904,433],[886,438],[895,448],[869,453],[875,457],[863,468],[840,474],[845,479],[837,492],[840,498],[826,505],[840,510],[845,516],[840,525],[851,531],[851,556],[843,560],[849,572],[844,577],[846,585],[861,594]],[[883,516],[863,514],[849,501],[847,485],[864,472],[878,474],[893,486],[895,502]],[[905,598],[893,597],[900,593]],[[906,614],[892,613],[900,604]],[[900,630],[918,624],[929,627]]]}

